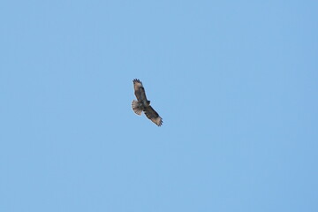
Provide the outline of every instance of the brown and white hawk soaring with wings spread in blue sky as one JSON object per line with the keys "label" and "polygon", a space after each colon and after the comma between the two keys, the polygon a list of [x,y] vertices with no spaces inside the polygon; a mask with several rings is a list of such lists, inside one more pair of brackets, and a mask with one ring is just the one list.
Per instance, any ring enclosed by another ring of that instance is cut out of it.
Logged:
{"label": "brown and white hawk soaring with wings spread in blue sky", "polygon": [[145,88],[142,86],[140,79],[133,79],[133,89],[137,97],[137,101],[133,100],[132,102],[133,111],[137,115],[141,115],[141,112],[144,111],[146,117],[155,125],[163,125],[163,118],[150,106],[150,101],[147,99]]}

